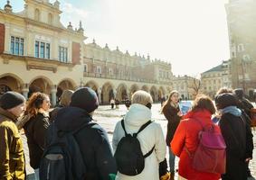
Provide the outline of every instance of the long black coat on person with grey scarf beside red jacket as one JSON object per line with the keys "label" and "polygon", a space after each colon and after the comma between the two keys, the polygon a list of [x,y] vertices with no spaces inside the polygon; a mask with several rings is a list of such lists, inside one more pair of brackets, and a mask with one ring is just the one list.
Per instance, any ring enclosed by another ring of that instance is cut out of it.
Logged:
{"label": "long black coat on person with grey scarf beside red jacket", "polygon": [[226,174],[223,180],[246,180],[245,158],[250,150],[246,137],[246,120],[231,113],[224,113],[219,122],[226,148]]}

